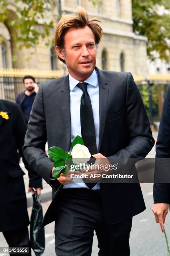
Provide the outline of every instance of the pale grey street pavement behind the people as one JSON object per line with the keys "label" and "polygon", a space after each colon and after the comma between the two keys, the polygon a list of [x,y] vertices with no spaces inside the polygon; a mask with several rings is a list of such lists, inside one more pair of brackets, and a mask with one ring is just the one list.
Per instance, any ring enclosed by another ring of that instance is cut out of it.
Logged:
{"label": "pale grey street pavement behind the people", "polygon": [[[153,133],[153,137],[155,141],[157,140],[158,132]],[[155,146],[152,151],[147,156],[148,158],[155,158]],[[25,175],[25,186],[28,187],[28,178]],[[133,218],[132,231],[130,234],[130,255],[131,256],[166,256],[167,248],[164,234],[160,230],[160,225],[155,223],[155,218],[153,212],[151,210],[153,206],[153,184],[141,184],[141,188],[143,191],[143,197],[146,204],[146,210],[139,215]],[[45,190],[46,189],[46,190]],[[51,188],[44,182],[44,195],[42,202],[43,212],[45,213],[48,206],[50,205],[50,193]],[[42,191],[43,191],[42,190]],[[31,195],[28,195],[28,202],[31,205]],[[114,203],[111,202],[110,203]],[[32,207],[28,207],[29,215],[31,214]],[[115,210],[116,208],[115,205]],[[126,209],[125,209],[126,211]],[[12,216],[11,216],[12,218]],[[167,236],[170,241],[170,214],[168,213],[167,218],[165,220],[165,229]],[[54,246],[54,223],[50,223],[45,227],[45,252],[44,256],[55,255],[55,246]],[[6,246],[7,243],[0,233],[0,247]],[[97,237],[94,234],[93,247],[92,247],[92,256],[97,256]],[[1,254],[8,255],[8,254]],[[34,256],[35,254],[32,253]],[[114,254],[113,254],[114,255]],[[107,256],[107,255],[106,255]],[[118,256],[118,255],[116,255]]]}

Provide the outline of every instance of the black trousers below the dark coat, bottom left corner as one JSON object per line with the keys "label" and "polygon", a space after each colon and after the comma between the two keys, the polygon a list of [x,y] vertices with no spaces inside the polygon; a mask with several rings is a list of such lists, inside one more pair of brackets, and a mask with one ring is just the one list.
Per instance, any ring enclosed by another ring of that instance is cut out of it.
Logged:
{"label": "black trousers below the dark coat, bottom left corner", "polygon": [[[2,232],[9,247],[29,247],[29,253],[23,253],[25,256],[31,256],[31,247],[28,234],[28,227]],[[22,253],[10,253],[11,256],[20,256]]]}

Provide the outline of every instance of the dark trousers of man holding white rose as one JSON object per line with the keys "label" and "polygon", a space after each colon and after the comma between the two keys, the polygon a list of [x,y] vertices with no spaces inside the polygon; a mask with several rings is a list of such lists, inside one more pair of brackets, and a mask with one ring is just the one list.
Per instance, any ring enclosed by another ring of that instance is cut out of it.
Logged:
{"label": "dark trousers of man holding white rose", "polygon": [[[62,189],[56,207],[57,256],[91,256],[94,230],[100,249],[99,256],[130,255],[132,218],[109,225],[102,213],[100,190]],[[119,210],[116,205],[115,210]]]}

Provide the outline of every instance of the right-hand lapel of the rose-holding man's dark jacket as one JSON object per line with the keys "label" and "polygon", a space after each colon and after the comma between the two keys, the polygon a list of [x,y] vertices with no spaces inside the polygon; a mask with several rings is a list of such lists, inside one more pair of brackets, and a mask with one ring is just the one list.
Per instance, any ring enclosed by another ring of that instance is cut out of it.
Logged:
{"label": "right-hand lapel of the rose-holding man's dark jacket", "polygon": [[102,137],[105,130],[105,119],[107,113],[107,102],[109,95],[109,87],[107,86],[106,76],[103,72],[96,68],[99,80],[99,118],[100,118],[100,130],[99,130],[99,146],[98,152],[100,152],[100,147],[102,143]]}

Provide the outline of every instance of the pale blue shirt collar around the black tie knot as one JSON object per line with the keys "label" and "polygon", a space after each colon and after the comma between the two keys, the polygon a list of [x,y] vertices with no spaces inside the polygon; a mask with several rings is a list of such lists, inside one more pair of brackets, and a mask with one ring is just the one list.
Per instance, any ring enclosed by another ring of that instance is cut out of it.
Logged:
{"label": "pale blue shirt collar around the black tie knot", "polygon": [[[70,74],[69,75],[69,84],[70,84],[70,91],[72,92],[73,89],[76,87],[76,85],[78,83],[80,83],[80,81],[77,81],[76,79],[74,79]],[[98,85],[98,77],[97,77],[97,72],[95,71],[95,69],[93,70],[92,74],[90,77],[88,77],[84,82],[92,85],[93,87],[97,87]]]}

